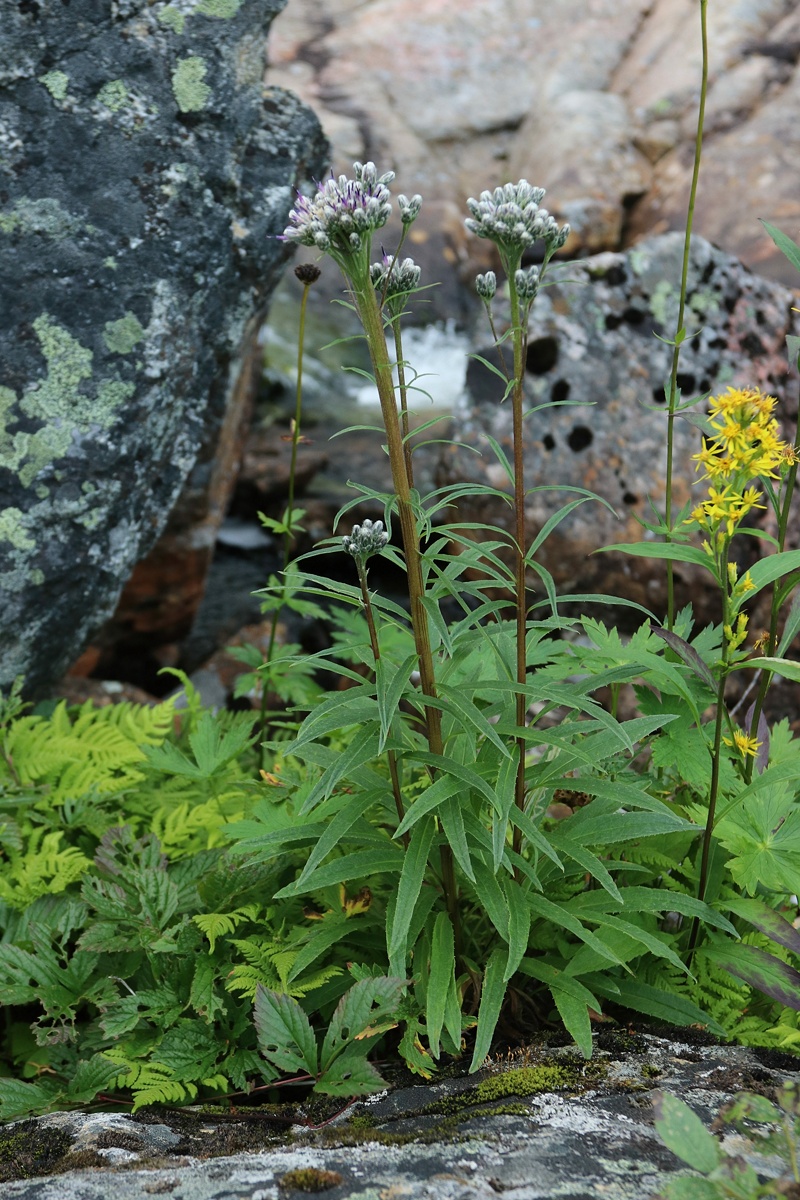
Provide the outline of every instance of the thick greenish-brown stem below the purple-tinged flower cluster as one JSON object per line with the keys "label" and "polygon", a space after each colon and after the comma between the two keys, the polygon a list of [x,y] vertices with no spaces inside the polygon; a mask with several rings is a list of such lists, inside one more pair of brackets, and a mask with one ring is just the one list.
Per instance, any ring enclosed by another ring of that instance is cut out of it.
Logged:
{"label": "thick greenish-brown stem below the purple-tinged flower cluster", "polygon": [[[401,424],[397,419],[397,402],[395,400],[395,383],[392,368],[389,361],[389,347],[384,332],[384,323],[380,316],[380,306],[375,290],[372,287],[368,274],[361,280],[349,280],[353,295],[355,298],[359,317],[363,325],[363,331],[369,347],[372,370],[378,388],[380,410],[386,430],[386,443],[389,449],[389,461],[392,472],[392,484],[397,497],[397,511],[401,523],[401,535],[403,539],[403,552],[405,556],[405,574],[408,578],[408,593],[411,608],[411,629],[414,632],[414,644],[417,654],[417,667],[420,672],[420,686],[423,696],[437,698],[437,682],[433,666],[433,654],[431,650],[431,634],[428,629],[428,614],[425,608],[425,583],[422,577],[422,558],[416,530],[416,518],[411,503],[411,485],[405,470],[405,454],[403,451],[403,437]],[[433,704],[425,706],[425,724],[431,754],[443,756],[444,743],[441,738],[441,713]],[[452,850],[449,845],[440,848],[441,863],[441,887],[447,906],[453,936],[456,940],[456,958],[461,958],[461,913],[458,910],[458,887],[456,883],[456,866]]]}

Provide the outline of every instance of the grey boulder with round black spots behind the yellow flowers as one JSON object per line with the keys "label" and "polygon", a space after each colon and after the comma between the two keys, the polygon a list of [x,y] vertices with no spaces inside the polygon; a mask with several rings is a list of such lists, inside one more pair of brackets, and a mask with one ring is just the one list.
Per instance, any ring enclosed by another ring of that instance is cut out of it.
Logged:
{"label": "grey boulder with round black spots behind the yellow flowers", "polygon": [[[537,562],[565,590],[625,596],[657,610],[664,604],[663,563],[594,551],[610,542],[642,540],[636,517],[652,517],[648,496],[663,510],[664,382],[672,348],[654,335],[669,337],[675,329],[682,248],[680,234],[664,234],[625,254],[597,254],[561,269],[564,282],[545,288],[534,305],[525,377],[527,408],[545,406],[525,424],[525,485],[553,488],[529,494],[529,536],[573,498],[559,487],[588,488],[606,502],[590,500],[575,509],[537,552]],[[558,274],[557,269],[553,277]],[[786,334],[796,331],[792,293],[751,275],[736,259],[694,238],[688,294],[690,336],[678,379],[684,402],[728,385],[759,386],[778,397],[777,415],[793,438],[796,384],[786,376],[784,346]],[[498,352],[487,335],[481,328],[479,353],[497,362]],[[498,379],[477,361],[469,367],[468,385],[471,401],[456,422],[455,436],[480,456],[458,445],[447,446],[439,481],[475,481],[507,490],[486,433],[511,457],[510,403],[498,403]],[[553,402],[560,404],[553,407]],[[703,404],[697,408],[704,412]],[[691,490],[697,479],[692,455],[699,449],[699,431],[678,419],[674,511],[702,494],[702,484]],[[485,497],[459,500],[465,520],[507,526],[509,511],[507,505]],[[750,539],[740,554],[753,550]],[[682,582],[681,602],[692,599],[696,611],[703,613],[698,588],[708,588],[708,575],[681,563],[678,578]],[[711,592],[708,600],[717,619]]]}

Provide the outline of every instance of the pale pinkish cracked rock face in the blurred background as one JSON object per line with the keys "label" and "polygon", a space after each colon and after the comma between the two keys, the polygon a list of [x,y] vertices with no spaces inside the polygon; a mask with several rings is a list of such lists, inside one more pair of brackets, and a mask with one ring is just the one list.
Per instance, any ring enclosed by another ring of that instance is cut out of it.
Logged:
{"label": "pale pinkish cracked rock face in the blurred background", "polygon": [[[696,232],[795,287],[757,218],[800,235],[800,10],[712,4],[708,28]],[[425,196],[408,248],[431,278],[482,262],[486,244],[464,241],[463,202],[509,179],[547,188],[573,228],[567,256],[684,227],[697,0],[294,0],[270,60],[320,114],[337,169],[373,157]]]}

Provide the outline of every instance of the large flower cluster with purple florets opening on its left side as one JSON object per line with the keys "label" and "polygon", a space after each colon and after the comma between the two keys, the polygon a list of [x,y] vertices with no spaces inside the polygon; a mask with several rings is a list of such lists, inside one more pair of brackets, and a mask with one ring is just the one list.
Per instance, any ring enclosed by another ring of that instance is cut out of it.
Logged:
{"label": "large flower cluster with purple florets opening on its left side", "polygon": [[319,185],[315,196],[297,196],[283,232],[284,241],[315,246],[342,259],[368,246],[372,233],[385,226],[391,215],[387,185],[395,173],[379,175],[373,162],[356,162],[353,170],[355,179],[331,175]]}

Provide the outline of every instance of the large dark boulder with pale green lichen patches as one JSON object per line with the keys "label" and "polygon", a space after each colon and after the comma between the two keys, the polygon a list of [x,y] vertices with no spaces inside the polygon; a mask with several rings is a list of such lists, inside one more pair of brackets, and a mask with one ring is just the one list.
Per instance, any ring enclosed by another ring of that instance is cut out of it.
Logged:
{"label": "large dark boulder with pale green lichen patches", "polygon": [[264,89],[281,7],[4,7],[0,686],[77,656],[182,491],[176,528],[210,548],[276,235],[326,154]]}

